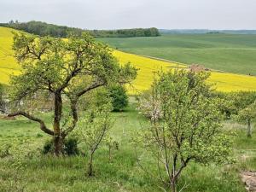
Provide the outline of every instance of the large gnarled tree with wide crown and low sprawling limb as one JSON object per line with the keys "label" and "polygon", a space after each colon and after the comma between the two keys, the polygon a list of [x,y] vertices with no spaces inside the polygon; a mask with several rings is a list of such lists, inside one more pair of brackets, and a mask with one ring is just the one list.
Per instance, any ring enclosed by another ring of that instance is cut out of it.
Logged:
{"label": "large gnarled tree with wide crown and low sprawling limb", "polygon": [[[15,34],[13,49],[22,67],[22,73],[11,81],[14,100],[20,102],[40,91],[52,94],[53,128],[49,129],[43,119],[26,110],[9,116],[22,115],[38,122],[42,131],[54,137],[55,155],[61,154],[63,140],[76,127],[81,96],[109,83],[130,83],[137,75],[129,63],[119,66],[112,50],[97,43],[88,33],[68,39]],[[65,128],[61,127],[63,98],[69,102],[72,116],[72,122]]]}

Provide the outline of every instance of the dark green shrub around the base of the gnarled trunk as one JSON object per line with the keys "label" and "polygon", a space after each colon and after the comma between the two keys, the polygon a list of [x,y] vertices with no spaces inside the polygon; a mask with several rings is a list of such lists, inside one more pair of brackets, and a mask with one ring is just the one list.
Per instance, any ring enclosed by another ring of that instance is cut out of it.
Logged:
{"label": "dark green shrub around the base of the gnarled trunk", "polygon": [[[74,137],[68,137],[64,140],[64,148],[63,154],[67,155],[76,155],[79,154],[78,148],[78,139]],[[44,143],[44,147],[42,150],[43,154],[53,154],[54,153],[54,141],[53,139],[47,140]]]}

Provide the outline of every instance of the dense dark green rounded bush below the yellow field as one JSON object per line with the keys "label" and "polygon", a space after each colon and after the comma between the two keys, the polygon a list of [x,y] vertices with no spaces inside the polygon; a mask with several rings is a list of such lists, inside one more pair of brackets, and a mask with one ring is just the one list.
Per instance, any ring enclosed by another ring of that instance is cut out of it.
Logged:
{"label": "dense dark green rounded bush below the yellow field", "polygon": [[124,86],[113,85],[108,88],[108,91],[112,99],[113,111],[122,111],[128,106],[128,96]]}

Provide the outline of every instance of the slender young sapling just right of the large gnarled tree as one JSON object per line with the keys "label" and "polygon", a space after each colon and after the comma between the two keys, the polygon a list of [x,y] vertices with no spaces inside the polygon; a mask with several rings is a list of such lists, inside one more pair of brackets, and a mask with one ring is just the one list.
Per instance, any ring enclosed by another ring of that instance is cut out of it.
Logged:
{"label": "slender young sapling just right of the large gnarled tree", "polygon": [[85,144],[89,153],[88,175],[93,175],[93,160],[96,150],[106,139],[108,130],[112,125],[112,105],[110,102],[101,107],[92,108],[84,113],[84,118],[79,120],[78,129],[75,131],[81,143]]}

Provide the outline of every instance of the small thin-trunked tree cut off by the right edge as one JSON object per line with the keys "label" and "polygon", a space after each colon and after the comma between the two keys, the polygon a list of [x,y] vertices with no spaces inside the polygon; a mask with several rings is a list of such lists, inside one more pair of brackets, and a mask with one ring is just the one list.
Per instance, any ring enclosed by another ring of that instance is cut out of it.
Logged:
{"label": "small thin-trunked tree cut off by the right edge", "polygon": [[256,119],[256,102],[241,109],[238,112],[237,119],[241,123],[247,124],[247,137],[252,137],[252,121]]}

